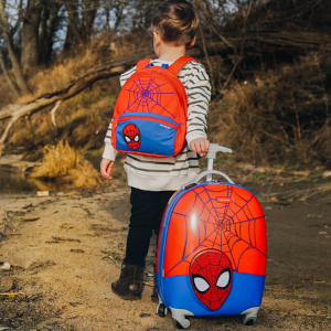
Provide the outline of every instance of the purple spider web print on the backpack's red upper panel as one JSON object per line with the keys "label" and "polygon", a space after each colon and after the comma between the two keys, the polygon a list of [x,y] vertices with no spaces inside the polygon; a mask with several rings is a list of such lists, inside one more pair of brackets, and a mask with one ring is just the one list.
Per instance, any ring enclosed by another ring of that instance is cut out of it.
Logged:
{"label": "purple spider web print on the backpack's red upper panel", "polygon": [[159,79],[158,84],[153,77],[148,79],[137,78],[132,81],[130,88],[126,90],[128,92],[128,106],[124,113],[153,113],[175,119],[175,116],[164,107],[164,104],[169,103],[169,98],[164,102],[163,97],[175,94],[174,92],[169,92],[168,83]]}

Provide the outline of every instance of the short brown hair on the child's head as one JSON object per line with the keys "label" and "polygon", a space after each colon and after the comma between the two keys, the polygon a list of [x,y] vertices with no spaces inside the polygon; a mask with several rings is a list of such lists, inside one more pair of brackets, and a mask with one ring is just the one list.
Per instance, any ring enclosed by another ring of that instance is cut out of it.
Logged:
{"label": "short brown hair on the child's head", "polygon": [[199,12],[190,2],[168,0],[153,13],[151,28],[166,43],[188,49],[195,38],[199,22]]}

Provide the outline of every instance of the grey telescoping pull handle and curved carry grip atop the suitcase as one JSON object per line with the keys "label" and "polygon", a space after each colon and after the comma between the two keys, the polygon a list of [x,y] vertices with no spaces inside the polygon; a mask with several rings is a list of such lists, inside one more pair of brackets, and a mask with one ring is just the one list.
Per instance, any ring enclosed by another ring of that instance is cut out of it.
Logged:
{"label": "grey telescoping pull handle and curved carry grip atop the suitcase", "polygon": [[192,185],[196,185],[204,177],[206,177],[206,181],[211,182],[213,180],[213,174],[218,174],[222,175],[223,178],[225,178],[229,183],[234,183],[232,181],[232,179],[226,175],[224,172],[222,171],[217,171],[217,170],[213,170],[214,168],[214,160],[216,158],[216,153],[217,152],[223,152],[223,153],[232,153],[232,149],[220,146],[217,143],[211,143],[210,145],[210,149],[209,152],[206,154],[207,158],[207,170],[201,172],[192,182],[186,183],[185,185],[183,185],[183,189],[190,188]]}

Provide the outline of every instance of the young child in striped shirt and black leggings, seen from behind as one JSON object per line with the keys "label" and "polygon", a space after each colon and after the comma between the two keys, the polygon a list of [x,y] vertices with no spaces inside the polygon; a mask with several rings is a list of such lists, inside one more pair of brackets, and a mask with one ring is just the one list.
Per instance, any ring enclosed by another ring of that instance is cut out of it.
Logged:
{"label": "young child in striped shirt and black leggings, seen from behind", "polygon": [[[185,0],[162,2],[153,14],[153,49],[158,58],[152,65],[172,64],[185,55],[195,42],[199,25],[196,9]],[[121,86],[135,73],[136,66],[120,76]],[[179,79],[188,97],[186,146],[175,157],[153,158],[127,154],[125,170],[131,186],[131,216],[126,257],[120,277],[111,290],[122,299],[141,298],[145,258],[152,231],[158,235],[166,205],[181,185],[192,181],[200,172],[197,156],[204,156],[210,142],[206,138],[206,115],[211,85],[203,65],[189,62],[180,71]],[[111,180],[111,169],[117,154],[110,142],[111,122],[106,138],[100,172]],[[157,299],[156,287],[152,300]]]}

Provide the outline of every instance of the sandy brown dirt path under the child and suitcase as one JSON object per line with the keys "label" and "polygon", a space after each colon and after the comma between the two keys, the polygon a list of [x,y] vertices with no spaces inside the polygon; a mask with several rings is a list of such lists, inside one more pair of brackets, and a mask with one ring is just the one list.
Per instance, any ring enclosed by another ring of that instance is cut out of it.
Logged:
{"label": "sandy brown dirt path under the child and suitcase", "polygon": [[[118,299],[128,189],[0,199],[0,330],[175,330],[150,301],[150,252],[141,301]],[[264,301],[254,327],[239,317],[192,319],[191,330],[331,330],[331,205],[263,203],[268,228]],[[110,256],[110,257],[109,257]],[[13,288],[3,295],[4,284]]]}

